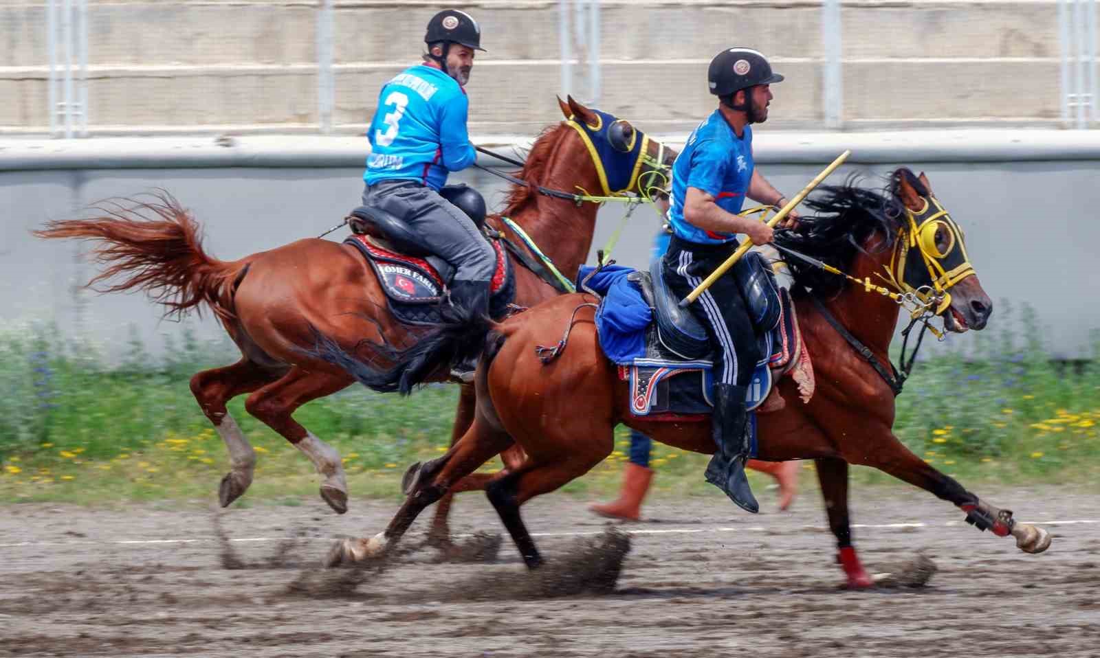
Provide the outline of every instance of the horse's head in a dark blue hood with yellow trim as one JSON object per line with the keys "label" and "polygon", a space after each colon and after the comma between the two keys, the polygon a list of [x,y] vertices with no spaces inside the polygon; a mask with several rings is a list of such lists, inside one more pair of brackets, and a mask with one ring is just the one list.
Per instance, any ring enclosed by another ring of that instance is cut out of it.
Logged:
{"label": "horse's head in a dark blue hood with yellow trim", "polygon": [[576,131],[595,165],[604,196],[635,192],[649,197],[667,194],[676,152],[618,119],[585,108],[566,97],[558,99],[565,124]]}

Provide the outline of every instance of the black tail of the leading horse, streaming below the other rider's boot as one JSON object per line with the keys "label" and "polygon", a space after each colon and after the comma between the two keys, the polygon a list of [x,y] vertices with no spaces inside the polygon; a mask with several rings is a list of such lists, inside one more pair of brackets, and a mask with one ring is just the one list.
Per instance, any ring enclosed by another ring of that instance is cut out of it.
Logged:
{"label": "black tail of the leading horse, streaming below the other rider's boot", "polygon": [[398,391],[408,395],[441,367],[480,352],[486,344],[486,336],[496,326],[482,314],[465,315],[460,309],[448,309],[447,313],[451,315],[448,321],[420,336],[415,345],[405,350],[398,352],[389,345],[372,345],[374,352],[393,363],[387,369],[380,369],[349,354],[316,327],[311,327],[314,348],[302,352],[342,368],[369,389],[382,393]]}

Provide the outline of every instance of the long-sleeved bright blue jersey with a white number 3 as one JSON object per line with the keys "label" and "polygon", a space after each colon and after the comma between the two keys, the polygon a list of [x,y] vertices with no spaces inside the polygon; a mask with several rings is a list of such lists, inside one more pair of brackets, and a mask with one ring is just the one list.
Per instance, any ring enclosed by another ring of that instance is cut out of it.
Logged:
{"label": "long-sleeved bright blue jersey with a white number 3", "polygon": [[414,66],[386,82],[366,133],[371,155],[363,180],[417,180],[438,191],[448,174],[477,156],[466,134],[469,107],[462,87],[431,66]]}

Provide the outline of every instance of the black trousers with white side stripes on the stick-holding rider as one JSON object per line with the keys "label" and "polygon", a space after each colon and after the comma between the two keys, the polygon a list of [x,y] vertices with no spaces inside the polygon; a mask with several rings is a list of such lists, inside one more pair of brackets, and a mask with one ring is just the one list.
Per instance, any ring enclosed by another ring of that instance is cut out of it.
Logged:
{"label": "black trousers with white side stripes on the stick-holding rider", "polygon": [[[684,298],[737,248],[736,243],[703,245],[672,236],[664,254],[664,280]],[[756,333],[733,272],[719,277],[690,306],[715,345],[714,382],[748,386],[760,360]]]}

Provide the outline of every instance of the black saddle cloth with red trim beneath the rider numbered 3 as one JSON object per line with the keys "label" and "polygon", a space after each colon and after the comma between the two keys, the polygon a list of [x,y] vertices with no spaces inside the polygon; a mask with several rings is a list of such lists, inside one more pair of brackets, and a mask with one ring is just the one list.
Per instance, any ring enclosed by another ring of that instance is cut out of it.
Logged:
{"label": "black saddle cloth with red trim beneath the rider numbered 3", "polygon": [[[453,275],[451,265],[436,256],[420,258],[399,254],[381,243],[370,235],[352,235],[344,241],[371,264],[386,293],[389,311],[398,321],[415,325],[439,324],[446,282]],[[491,244],[496,252],[496,269],[490,287],[490,314],[498,320],[507,315],[508,304],[516,295],[516,277],[499,241],[491,241]]]}

